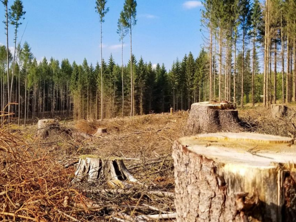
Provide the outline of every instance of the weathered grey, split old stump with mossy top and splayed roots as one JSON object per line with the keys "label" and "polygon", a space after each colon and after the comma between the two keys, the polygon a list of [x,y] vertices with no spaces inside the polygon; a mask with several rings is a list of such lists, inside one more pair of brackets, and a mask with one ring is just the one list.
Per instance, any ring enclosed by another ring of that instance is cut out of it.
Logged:
{"label": "weathered grey, split old stump with mossy top and splayed roots", "polygon": [[[109,184],[118,184],[119,181],[138,182],[123,163],[123,158],[100,158],[96,155],[82,155],[79,158],[75,172],[76,181],[86,180],[94,183],[111,181]],[[120,183],[120,186],[124,183]],[[121,187],[123,188],[123,187]]]}

